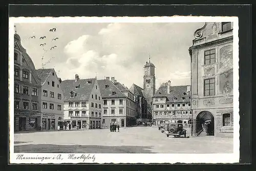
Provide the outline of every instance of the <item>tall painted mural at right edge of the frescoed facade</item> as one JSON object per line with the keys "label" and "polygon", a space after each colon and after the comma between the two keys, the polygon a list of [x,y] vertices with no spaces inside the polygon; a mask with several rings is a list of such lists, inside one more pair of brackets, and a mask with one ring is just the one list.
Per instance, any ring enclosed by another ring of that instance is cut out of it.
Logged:
{"label": "tall painted mural at right edge of the frescoed facade", "polygon": [[233,91],[233,50],[232,46],[226,46],[220,50],[220,91],[225,97]]}

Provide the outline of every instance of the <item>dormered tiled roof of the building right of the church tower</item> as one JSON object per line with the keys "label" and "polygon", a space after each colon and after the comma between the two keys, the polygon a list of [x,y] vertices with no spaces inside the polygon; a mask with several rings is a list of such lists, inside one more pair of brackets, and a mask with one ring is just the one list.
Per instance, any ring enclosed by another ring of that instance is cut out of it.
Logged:
{"label": "dormered tiled roof of the building right of the church tower", "polygon": [[167,97],[168,102],[190,102],[190,92],[187,92],[187,86],[170,86],[169,94],[167,94],[167,86],[161,86],[154,97]]}

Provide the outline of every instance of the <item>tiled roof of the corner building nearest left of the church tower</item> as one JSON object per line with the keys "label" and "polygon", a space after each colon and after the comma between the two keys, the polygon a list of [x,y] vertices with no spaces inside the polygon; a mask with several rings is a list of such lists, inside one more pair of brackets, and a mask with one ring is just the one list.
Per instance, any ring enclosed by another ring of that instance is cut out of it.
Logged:
{"label": "tiled roof of the corner building nearest left of the church tower", "polygon": [[[102,98],[117,98],[117,97],[126,97],[115,85],[111,80],[108,79],[101,79],[98,80],[99,89],[101,92]],[[109,87],[106,88],[106,85]],[[116,94],[112,94],[112,92],[116,92]]]}

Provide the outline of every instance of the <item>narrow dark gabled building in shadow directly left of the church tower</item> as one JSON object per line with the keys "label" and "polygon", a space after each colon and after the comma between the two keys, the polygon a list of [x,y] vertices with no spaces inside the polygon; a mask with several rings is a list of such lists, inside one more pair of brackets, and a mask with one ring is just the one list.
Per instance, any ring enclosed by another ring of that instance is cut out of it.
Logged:
{"label": "narrow dark gabled building in shadow directly left of the church tower", "polygon": [[150,122],[151,115],[147,113],[147,101],[143,96],[143,89],[136,84],[132,84],[130,91],[135,96],[135,113],[138,122]]}

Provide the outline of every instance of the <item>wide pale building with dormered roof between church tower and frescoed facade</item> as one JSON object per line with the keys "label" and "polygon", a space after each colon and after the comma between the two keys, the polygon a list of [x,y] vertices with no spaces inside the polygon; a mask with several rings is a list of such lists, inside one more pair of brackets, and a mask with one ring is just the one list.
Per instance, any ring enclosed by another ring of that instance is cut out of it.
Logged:
{"label": "wide pale building with dormered roof between church tower and frescoed facade", "polygon": [[169,122],[191,124],[190,86],[162,83],[153,97],[153,121],[156,125]]}

